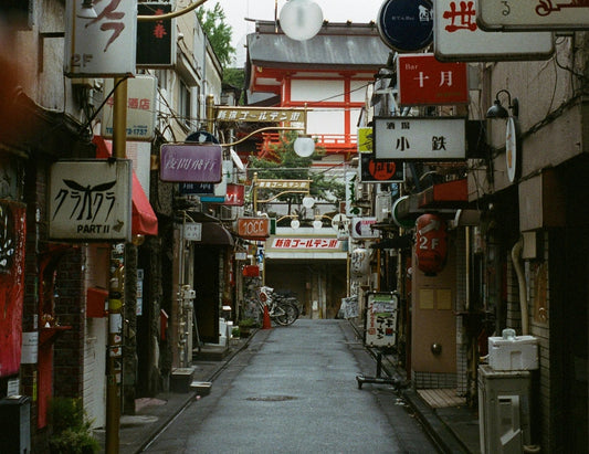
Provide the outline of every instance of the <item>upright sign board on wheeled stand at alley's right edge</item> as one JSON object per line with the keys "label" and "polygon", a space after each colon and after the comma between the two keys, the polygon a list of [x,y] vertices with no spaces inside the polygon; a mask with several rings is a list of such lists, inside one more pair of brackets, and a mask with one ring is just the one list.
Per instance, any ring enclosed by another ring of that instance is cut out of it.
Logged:
{"label": "upright sign board on wheeled stand at alley's right edge", "polygon": [[395,293],[369,292],[366,295],[365,344],[369,347],[393,347],[397,344],[399,296]]}

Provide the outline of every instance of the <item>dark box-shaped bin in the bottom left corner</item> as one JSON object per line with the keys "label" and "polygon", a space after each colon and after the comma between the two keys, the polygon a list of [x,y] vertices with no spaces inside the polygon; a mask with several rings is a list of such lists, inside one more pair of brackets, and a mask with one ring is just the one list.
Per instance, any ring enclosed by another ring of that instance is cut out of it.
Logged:
{"label": "dark box-shaped bin in the bottom left corner", "polygon": [[25,395],[0,399],[0,453],[31,452],[31,401]]}

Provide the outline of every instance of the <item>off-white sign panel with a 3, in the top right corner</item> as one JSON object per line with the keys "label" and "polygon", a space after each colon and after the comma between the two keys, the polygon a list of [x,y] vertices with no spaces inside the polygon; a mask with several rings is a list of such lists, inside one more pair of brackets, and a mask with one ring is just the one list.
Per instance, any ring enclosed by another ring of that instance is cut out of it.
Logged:
{"label": "off-white sign panel with a 3, in the top right corner", "polygon": [[589,30],[589,4],[578,0],[478,0],[483,30]]}

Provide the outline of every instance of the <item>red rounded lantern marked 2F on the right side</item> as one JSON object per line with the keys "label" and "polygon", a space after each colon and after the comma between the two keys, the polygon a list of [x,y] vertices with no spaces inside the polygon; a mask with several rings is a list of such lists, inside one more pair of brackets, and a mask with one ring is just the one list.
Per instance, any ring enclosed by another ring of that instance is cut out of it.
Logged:
{"label": "red rounded lantern marked 2F on the right side", "polygon": [[427,276],[435,276],[445,265],[448,233],[442,218],[427,213],[416,221],[416,255],[418,267]]}

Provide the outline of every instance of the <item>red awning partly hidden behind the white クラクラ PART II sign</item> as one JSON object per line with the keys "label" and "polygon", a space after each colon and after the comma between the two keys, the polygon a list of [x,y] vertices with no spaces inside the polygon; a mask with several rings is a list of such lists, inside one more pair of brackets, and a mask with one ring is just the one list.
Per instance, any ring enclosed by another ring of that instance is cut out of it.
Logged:
{"label": "red awning partly hidden behind the white \u30af\u30e9\u30af\u30e9 PART II sign", "polygon": [[[94,136],[92,141],[96,144],[96,158],[106,159],[111,157],[113,154],[112,144],[104,140],[101,136]],[[158,220],[156,213],[149,204],[149,200],[145,194],[139,179],[135,175],[135,170],[133,171],[132,202],[132,233],[134,235],[157,235]]]}

